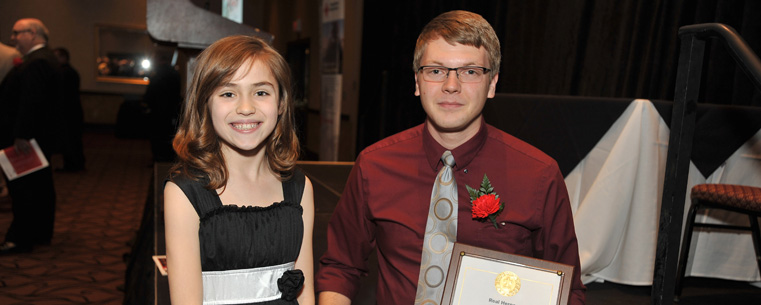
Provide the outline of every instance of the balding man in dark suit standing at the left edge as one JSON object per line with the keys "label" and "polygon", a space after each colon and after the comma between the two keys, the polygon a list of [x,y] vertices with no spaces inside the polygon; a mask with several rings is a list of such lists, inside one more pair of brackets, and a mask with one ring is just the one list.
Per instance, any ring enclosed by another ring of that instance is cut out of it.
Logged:
{"label": "balding man in dark suit standing at the left edge", "polygon": [[[33,153],[36,139],[49,159],[55,151],[60,113],[60,65],[47,47],[48,29],[38,19],[25,18],[13,25],[11,43],[23,55],[0,84],[0,147],[13,146]],[[47,245],[53,237],[55,188],[53,173],[45,169],[8,182],[13,222],[0,244],[0,254],[29,252]]]}

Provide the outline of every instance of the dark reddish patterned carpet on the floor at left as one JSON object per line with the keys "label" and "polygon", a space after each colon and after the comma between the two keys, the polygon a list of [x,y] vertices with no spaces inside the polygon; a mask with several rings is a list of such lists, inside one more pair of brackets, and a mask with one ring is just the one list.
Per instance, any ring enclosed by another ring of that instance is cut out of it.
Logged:
{"label": "dark reddish patterned carpet on the floor at left", "polygon": [[[0,256],[0,304],[122,304],[130,241],[152,174],[147,140],[86,133],[87,170],[55,173],[56,222],[50,246]],[[60,158],[51,160],[54,168]],[[11,222],[0,197],[0,239]]]}

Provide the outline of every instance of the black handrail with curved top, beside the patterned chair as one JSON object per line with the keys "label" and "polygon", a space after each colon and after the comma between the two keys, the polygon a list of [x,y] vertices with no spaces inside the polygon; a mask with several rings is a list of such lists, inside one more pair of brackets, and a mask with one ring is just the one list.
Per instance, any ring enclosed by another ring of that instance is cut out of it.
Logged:
{"label": "black handrail with curved top, beside the patterned chair", "polygon": [[651,292],[651,304],[659,305],[673,304],[674,299],[687,177],[706,41],[718,38],[723,42],[729,48],[735,62],[751,78],[756,88],[761,90],[761,61],[732,27],[719,23],[683,26],[679,28],[679,38],[681,51],[677,64]]}

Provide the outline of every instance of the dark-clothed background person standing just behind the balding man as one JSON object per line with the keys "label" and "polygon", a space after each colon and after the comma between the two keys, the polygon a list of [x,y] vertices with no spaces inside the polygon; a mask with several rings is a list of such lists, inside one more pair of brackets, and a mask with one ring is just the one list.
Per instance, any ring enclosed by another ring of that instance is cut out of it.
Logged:
{"label": "dark-clothed background person standing just behind the balding man", "polygon": [[63,96],[61,120],[63,137],[60,148],[63,155],[63,172],[79,172],[85,169],[85,154],[82,144],[84,132],[84,114],[79,98],[79,73],[69,64],[69,50],[56,48],[53,50],[63,73]]}

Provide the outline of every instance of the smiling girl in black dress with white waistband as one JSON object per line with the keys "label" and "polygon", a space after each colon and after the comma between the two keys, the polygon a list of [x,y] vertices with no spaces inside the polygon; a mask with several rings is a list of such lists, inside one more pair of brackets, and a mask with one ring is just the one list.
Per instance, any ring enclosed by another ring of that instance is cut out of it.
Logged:
{"label": "smiling girl in black dress with white waistband", "polygon": [[314,304],[314,198],[295,168],[289,73],[254,37],[198,57],[164,189],[173,304]]}

